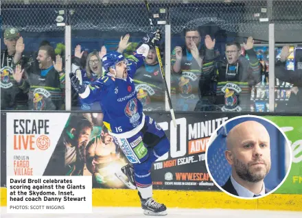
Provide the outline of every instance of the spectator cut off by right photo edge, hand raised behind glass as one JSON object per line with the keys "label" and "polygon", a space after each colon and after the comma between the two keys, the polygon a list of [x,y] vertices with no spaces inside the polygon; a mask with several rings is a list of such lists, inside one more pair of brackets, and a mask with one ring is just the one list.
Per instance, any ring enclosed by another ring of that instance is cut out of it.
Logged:
{"label": "spectator cut off by right photo edge, hand raised behind glass", "polygon": [[[284,46],[281,50],[280,60],[275,64],[275,77],[279,80],[293,84],[290,99],[286,108],[281,108],[286,112],[302,111],[302,69],[299,66],[294,71],[286,69],[286,60],[290,56],[290,47]],[[299,62],[301,63],[301,62]],[[300,66],[301,67],[301,66]]]}

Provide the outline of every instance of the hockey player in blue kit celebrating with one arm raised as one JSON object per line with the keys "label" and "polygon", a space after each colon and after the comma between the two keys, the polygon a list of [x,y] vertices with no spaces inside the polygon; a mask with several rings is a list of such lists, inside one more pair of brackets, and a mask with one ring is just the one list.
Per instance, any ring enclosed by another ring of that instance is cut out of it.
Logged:
{"label": "hockey player in blue kit celebrating with one arm raised", "polygon": [[80,84],[78,77],[70,74],[71,84],[83,101],[100,101],[104,125],[130,162],[122,171],[137,187],[145,215],[167,215],[165,205],[152,198],[150,171],[152,163],[168,152],[170,141],[161,127],[143,114],[132,78],[148,56],[150,46],[160,38],[159,30],[147,34],[127,59],[116,51],[107,53],[102,58],[105,75],[89,86]]}

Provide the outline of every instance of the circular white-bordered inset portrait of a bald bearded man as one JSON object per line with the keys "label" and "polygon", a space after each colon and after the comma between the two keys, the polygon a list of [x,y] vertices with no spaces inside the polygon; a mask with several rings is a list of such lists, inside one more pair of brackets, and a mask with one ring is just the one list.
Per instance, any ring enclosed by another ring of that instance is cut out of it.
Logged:
{"label": "circular white-bordered inset portrait of a bald bearded man", "polygon": [[288,138],[272,121],[244,115],[222,123],[209,139],[207,171],[224,193],[264,197],[286,180],[292,164]]}

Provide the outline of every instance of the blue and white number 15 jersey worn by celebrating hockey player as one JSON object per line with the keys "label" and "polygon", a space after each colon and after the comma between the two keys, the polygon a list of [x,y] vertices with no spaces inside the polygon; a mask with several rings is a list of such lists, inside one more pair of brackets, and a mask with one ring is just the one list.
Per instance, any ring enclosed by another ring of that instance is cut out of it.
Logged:
{"label": "blue and white number 15 jersey worn by celebrating hockey player", "polygon": [[137,69],[143,64],[144,58],[137,53],[128,56],[126,79],[105,75],[91,82],[89,88],[80,95],[85,104],[100,102],[104,113],[104,125],[118,138],[134,136],[144,125],[143,106],[137,99],[135,83],[132,80]]}

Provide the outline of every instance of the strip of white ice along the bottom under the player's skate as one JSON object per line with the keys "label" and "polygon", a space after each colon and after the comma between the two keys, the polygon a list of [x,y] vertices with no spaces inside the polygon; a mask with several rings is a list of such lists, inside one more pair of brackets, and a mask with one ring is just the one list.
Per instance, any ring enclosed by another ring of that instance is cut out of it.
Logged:
{"label": "strip of white ice along the bottom under the player's skate", "polygon": [[[91,214],[7,214],[6,208],[1,207],[1,217],[3,218],[40,218],[40,217],[81,217],[81,218],[113,218],[113,217],[153,217],[143,215],[141,208],[93,208]],[[272,211],[272,210],[225,210],[225,209],[177,209],[168,208],[167,216],[165,217],[189,217],[189,218],[290,218],[302,217],[302,212],[291,211]]]}

